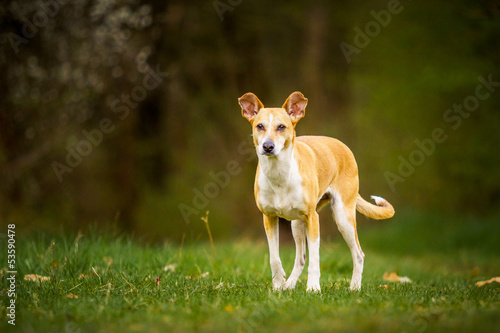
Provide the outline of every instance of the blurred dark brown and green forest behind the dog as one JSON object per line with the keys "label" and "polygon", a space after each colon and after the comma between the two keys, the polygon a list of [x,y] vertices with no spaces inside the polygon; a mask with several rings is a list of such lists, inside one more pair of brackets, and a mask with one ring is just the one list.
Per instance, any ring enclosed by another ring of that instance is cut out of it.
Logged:
{"label": "blurred dark brown and green forest behind the dog", "polygon": [[477,87],[500,81],[499,1],[18,0],[0,25],[0,218],[21,230],[204,239],[209,210],[218,239],[260,235],[248,91],[303,92],[298,134],[346,143],[365,198],[498,213],[500,87]]}

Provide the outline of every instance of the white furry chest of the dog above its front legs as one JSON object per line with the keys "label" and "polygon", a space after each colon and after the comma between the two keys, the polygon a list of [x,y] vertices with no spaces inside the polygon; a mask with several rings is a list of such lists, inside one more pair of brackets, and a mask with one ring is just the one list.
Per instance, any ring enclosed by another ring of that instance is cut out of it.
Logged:
{"label": "white furry chest of the dog above its front legs", "polygon": [[287,220],[303,218],[305,205],[302,177],[298,165],[293,161],[290,168],[279,166],[259,174],[259,204],[266,215],[277,215]]}

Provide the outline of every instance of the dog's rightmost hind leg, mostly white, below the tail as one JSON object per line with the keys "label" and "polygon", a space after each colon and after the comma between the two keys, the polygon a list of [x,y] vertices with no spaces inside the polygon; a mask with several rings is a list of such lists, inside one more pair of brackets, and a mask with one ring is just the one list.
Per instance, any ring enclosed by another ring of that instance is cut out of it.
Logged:
{"label": "dog's rightmost hind leg, mostly white, below the tail", "polygon": [[365,255],[359,245],[358,233],[356,231],[356,204],[354,203],[354,205],[346,207],[342,198],[337,193],[332,199],[332,210],[337,227],[351,250],[353,272],[350,289],[360,290]]}

